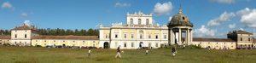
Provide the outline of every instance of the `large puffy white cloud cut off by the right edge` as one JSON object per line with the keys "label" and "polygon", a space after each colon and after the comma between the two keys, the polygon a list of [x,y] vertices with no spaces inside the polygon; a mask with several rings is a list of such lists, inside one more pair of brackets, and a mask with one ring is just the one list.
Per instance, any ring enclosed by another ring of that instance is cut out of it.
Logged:
{"label": "large puffy white cloud cut off by the right edge", "polygon": [[241,9],[236,14],[240,15],[240,21],[245,26],[256,28],[256,9]]}

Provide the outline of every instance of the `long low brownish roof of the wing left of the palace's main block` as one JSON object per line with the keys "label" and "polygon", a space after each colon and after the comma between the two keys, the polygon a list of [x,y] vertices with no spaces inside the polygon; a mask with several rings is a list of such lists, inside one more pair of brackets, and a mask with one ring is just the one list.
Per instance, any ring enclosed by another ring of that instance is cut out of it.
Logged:
{"label": "long low brownish roof of the wing left of the palace's main block", "polygon": [[98,40],[98,36],[34,36],[32,39],[74,39],[74,40]]}

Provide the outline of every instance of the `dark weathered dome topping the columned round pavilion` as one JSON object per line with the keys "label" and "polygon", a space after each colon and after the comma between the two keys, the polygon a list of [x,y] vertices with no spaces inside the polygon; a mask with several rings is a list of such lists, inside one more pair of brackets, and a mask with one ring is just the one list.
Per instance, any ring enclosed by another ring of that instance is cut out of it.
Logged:
{"label": "dark weathered dome topping the columned round pavilion", "polygon": [[193,24],[189,22],[189,18],[183,14],[182,9],[179,9],[179,12],[172,16],[172,20],[169,22],[168,27],[174,26],[190,26],[193,27]]}

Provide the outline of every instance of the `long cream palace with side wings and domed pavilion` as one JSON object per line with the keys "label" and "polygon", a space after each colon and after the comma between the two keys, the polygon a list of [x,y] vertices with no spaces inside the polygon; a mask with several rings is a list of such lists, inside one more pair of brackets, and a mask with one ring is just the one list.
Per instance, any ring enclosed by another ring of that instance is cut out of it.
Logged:
{"label": "long cream palace with side wings and domed pavilion", "polygon": [[166,45],[196,45],[205,49],[253,49],[256,39],[248,31],[230,31],[227,38],[193,37],[193,24],[183,9],[166,25],[154,24],[152,14],[126,14],[126,23],[100,26],[99,36],[42,36],[34,26],[17,26],[0,44],[16,46],[77,47],[98,49],[158,49]]}

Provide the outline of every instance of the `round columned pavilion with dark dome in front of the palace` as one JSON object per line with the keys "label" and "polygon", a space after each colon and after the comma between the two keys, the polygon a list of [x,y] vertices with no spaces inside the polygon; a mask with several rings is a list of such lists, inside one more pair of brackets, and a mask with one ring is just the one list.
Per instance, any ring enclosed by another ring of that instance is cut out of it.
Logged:
{"label": "round columned pavilion with dark dome in front of the palace", "polygon": [[183,9],[172,16],[172,20],[168,23],[169,43],[178,45],[189,45],[193,39],[193,24],[189,18],[183,14]]}

